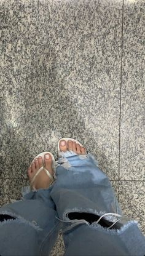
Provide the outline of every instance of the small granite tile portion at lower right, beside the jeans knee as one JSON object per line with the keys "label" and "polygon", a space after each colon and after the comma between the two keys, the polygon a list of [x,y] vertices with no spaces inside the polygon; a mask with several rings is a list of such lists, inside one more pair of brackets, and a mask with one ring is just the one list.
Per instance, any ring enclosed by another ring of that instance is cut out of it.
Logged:
{"label": "small granite tile portion at lower right, beside the jeans knee", "polygon": [[145,234],[145,182],[119,183],[119,202],[124,215],[138,220]]}

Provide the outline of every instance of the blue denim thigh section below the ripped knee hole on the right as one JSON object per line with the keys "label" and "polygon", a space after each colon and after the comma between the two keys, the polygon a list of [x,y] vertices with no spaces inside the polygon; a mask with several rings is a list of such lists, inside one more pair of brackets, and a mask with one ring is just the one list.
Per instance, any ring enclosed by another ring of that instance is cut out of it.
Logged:
{"label": "blue denim thigh section below the ripped knee hole on the right", "polygon": [[135,222],[120,230],[108,230],[93,223],[78,225],[63,233],[64,256],[144,256],[145,238]]}

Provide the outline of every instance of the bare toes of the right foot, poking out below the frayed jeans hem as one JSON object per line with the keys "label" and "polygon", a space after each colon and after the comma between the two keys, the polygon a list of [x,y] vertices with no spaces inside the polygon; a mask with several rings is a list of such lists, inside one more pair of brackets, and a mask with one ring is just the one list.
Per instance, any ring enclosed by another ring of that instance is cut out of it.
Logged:
{"label": "bare toes of the right foot, poking out below the frayed jeans hem", "polygon": [[76,142],[72,142],[72,140],[68,140],[68,142],[66,142],[65,140],[60,140],[59,143],[59,147],[60,147],[60,151],[73,151],[74,153],[77,154],[86,154],[86,150],[84,148],[84,146],[80,146],[78,143]]}

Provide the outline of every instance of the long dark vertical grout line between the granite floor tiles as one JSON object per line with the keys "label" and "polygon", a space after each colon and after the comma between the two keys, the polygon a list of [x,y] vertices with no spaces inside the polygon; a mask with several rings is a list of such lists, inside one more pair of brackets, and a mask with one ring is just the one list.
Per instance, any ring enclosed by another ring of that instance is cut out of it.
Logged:
{"label": "long dark vertical grout line between the granite floor tiles", "polygon": [[[121,38],[121,72],[120,72],[120,113],[119,113],[119,181],[120,181],[120,130],[121,130],[121,100],[122,100],[122,57],[123,57],[123,7],[124,0],[122,0],[122,38]],[[120,199],[120,188],[119,188]]]}

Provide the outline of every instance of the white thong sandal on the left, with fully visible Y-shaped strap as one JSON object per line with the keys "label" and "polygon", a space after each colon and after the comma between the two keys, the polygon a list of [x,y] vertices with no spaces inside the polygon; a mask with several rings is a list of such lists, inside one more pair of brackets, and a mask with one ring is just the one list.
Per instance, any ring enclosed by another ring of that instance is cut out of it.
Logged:
{"label": "white thong sandal on the left, with fully visible Y-shaped strap", "polygon": [[[49,153],[50,156],[52,157],[52,169],[53,169],[53,176],[50,174],[49,170],[47,170],[45,167],[44,167],[44,155]],[[34,175],[33,179],[31,180],[31,183],[30,183],[30,188],[31,190],[36,190],[35,186],[33,185],[34,183],[34,180],[36,178],[36,176],[41,172],[41,170],[45,170],[45,173],[49,176],[50,180],[52,180],[52,182],[50,183],[50,185],[52,185],[52,183],[54,182],[55,180],[55,158],[53,156],[52,153],[48,152],[48,151],[45,151],[45,152],[42,152],[40,154],[38,154],[34,159],[36,158],[39,158],[39,156],[42,157],[42,163],[43,163],[43,166],[36,172],[36,174]],[[31,162],[31,164],[34,162],[34,159],[33,161]]]}

